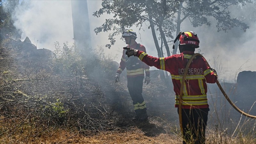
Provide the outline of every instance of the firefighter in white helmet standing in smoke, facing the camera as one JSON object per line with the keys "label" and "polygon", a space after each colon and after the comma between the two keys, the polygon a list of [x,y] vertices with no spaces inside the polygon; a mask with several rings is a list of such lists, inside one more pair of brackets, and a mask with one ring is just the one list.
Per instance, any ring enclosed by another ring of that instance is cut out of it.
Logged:
{"label": "firefighter in white helmet standing in smoke, facing the camera", "polygon": [[[136,32],[132,29],[125,29],[122,37],[127,47],[146,52],[146,48],[142,44],[138,44]],[[134,111],[136,116],[133,121],[146,121],[148,119],[146,103],[142,97],[142,85],[144,79],[144,71],[146,73],[145,83],[150,82],[149,66],[140,61],[137,57],[127,57],[123,50],[120,66],[116,72],[116,82],[119,81],[120,74],[126,68],[127,72],[127,87],[132,98]]]}

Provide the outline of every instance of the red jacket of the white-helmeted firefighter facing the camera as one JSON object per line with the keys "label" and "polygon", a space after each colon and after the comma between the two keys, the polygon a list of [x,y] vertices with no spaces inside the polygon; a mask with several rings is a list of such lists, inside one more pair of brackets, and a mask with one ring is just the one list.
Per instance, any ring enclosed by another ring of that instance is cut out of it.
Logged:
{"label": "red jacket of the white-helmeted firefighter facing the camera", "polygon": [[[146,52],[146,48],[142,44],[138,44],[136,42],[135,44],[128,45],[127,47]],[[148,65],[140,61],[138,57],[132,56],[128,58],[125,52],[126,50],[123,50],[123,55],[122,55],[120,66],[117,70],[117,73],[121,74],[124,68],[126,68],[127,78],[144,76],[144,70],[145,70],[146,76],[150,76]]]}

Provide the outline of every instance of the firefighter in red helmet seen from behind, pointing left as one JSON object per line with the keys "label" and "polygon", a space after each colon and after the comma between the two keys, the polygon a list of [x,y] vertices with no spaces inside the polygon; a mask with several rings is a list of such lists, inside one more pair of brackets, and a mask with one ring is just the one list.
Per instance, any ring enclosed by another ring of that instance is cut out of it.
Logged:
{"label": "firefighter in red helmet seen from behind, pointing left", "polygon": [[[165,58],[152,57],[143,51],[135,49],[128,49],[126,51],[128,57],[132,55],[137,56],[147,65],[171,73],[176,95],[176,108],[179,106],[180,86],[187,62],[194,54],[195,48],[199,47],[199,39],[196,33],[192,31],[180,32],[174,43],[177,39],[180,41],[180,54],[174,54]],[[188,68],[182,96],[183,143],[205,143],[205,127],[209,111],[206,83],[215,83],[216,80],[217,73],[207,65],[206,60],[200,56],[195,57]]]}

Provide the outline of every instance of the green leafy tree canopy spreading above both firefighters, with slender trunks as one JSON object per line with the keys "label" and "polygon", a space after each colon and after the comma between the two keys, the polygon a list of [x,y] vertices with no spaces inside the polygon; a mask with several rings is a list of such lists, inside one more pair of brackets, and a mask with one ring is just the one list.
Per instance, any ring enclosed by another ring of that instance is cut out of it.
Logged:
{"label": "green leafy tree canopy spreading above both firefighters, with slender trunks", "polygon": [[[214,18],[217,21],[217,31],[228,32],[231,28],[241,27],[244,32],[246,31],[247,24],[243,21],[232,18],[228,11],[231,5],[242,5],[251,3],[252,1],[245,0],[103,0],[102,8],[93,13],[93,16],[100,17],[103,14],[114,14],[113,18],[106,19],[100,26],[94,29],[95,33],[112,31],[108,39],[110,44],[106,47],[110,48],[115,44],[115,36],[119,35],[125,28],[132,26],[142,27],[143,24],[148,24],[148,28],[155,28],[160,32],[158,40],[162,40],[166,48],[167,55],[170,55],[169,45],[173,44],[173,35],[177,35],[181,29],[180,25],[188,19],[193,27],[200,27],[203,25],[211,26],[209,18]],[[152,29],[152,35],[156,35]],[[176,31],[176,34],[175,34]],[[154,40],[156,36],[154,37]],[[155,40],[158,56],[162,56],[159,44]],[[158,45],[158,46],[157,46]],[[177,52],[177,45],[173,54]],[[161,47],[162,48],[162,47]]]}

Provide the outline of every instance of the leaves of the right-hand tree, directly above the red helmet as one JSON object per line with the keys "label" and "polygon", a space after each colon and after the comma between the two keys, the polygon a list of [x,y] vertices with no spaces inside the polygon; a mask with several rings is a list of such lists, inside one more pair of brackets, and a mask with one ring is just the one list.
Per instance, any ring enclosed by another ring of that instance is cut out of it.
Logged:
{"label": "leaves of the right-hand tree, directly above the red helmet", "polygon": [[[224,31],[228,32],[231,28],[240,27],[244,32],[249,26],[242,20],[237,18],[232,18],[228,8],[231,5],[241,5],[245,6],[247,3],[252,3],[248,0],[196,0],[196,1],[180,1],[180,8],[177,11],[177,19],[173,21],[176,23],[176,35],[181,31],[180,25],[185,20],[188,19],[193,27],[200,27],[203,25],[211,26],[211,21],[209,18],[213,18],[217,21],[216,28],[217,32]],[[173,54],[177,52],[178,43],[175,44],[175,49]]]}

